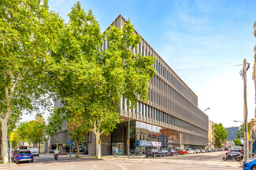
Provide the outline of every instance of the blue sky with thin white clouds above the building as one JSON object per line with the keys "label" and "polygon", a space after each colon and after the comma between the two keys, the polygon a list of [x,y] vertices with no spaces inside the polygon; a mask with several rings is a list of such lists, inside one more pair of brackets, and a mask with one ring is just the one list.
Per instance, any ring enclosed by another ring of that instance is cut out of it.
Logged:
{"label": "blue sky with thin white clouds above the building", "polygon": [[[49,8],[66,22],[76,1],[49,0]],[[255,1],[80,1],[98,20],[102,32],[119,14],[198,96],[198,107],[224,127],[243,121],[243,59],[247,71],[248,120],[254,118]],[[237,66],[239,65],[239,66]],[[210,68],[220,67],[220,68]],[[198,69],[206,68],[206,69]],[[188,70],[184,70],[188,69]],[[191,70],[195,69],[195,70]]]}

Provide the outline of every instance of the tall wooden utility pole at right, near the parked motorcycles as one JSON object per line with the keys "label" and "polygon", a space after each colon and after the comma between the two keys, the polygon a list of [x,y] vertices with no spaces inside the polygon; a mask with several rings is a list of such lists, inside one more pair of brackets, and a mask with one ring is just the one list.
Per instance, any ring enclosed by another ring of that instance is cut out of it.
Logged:
{"label": "tall wooden utility pole at right, near the parked motorcycles", "polygon": [[247,71],[250,65],[247,60],[243,60],[243,70],[240,71],[240,75],[243,78],[243,149],[244,149],[244,161],[248,160],[248,137],[247,137]]}

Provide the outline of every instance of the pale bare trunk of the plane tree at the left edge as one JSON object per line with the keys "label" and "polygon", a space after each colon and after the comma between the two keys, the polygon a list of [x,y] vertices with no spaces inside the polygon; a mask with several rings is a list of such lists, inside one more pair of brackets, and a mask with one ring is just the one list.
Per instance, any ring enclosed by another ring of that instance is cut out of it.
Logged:
{"label": "pale bare trunk of the plane tree at the left edge", "polygon": [[7,119],[2,119],[2,161],[4,164],[8,164],[8,142],[7,142]]}

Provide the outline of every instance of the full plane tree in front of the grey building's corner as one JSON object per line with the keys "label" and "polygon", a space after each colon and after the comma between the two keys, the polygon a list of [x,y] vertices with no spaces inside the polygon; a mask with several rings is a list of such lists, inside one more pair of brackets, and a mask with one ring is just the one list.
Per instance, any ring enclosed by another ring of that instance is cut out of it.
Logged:
{"label": "full plane tree in front of the grey building's corner", "polygon": [[[103,47],[106,38],[108,49]],[[79,2],[69,13],[61,42],[52,70],[58,98],[67,118],[79,113],[85,128],[95,133],[96,157],[101,158],[98,139],[120,122],[121,97],[130,107],[135,107],[138,98],[147,100],[154,57],[133,52],[140,37],[130,20],[123,29],[110,27],[102,34],[91,11],[85,13]]]}

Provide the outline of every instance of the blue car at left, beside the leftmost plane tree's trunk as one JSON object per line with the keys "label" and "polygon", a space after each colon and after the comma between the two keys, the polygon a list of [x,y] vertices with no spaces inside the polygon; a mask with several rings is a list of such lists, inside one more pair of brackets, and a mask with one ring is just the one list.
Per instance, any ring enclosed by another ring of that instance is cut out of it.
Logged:
{"label": "blue car at left, beside the leftmost plane tree's trunk", "polygon": [[29,150],[15,150],[12,159],[16,162],[16,164],[20,163],[21,161],[34,161],[34,157]]}

